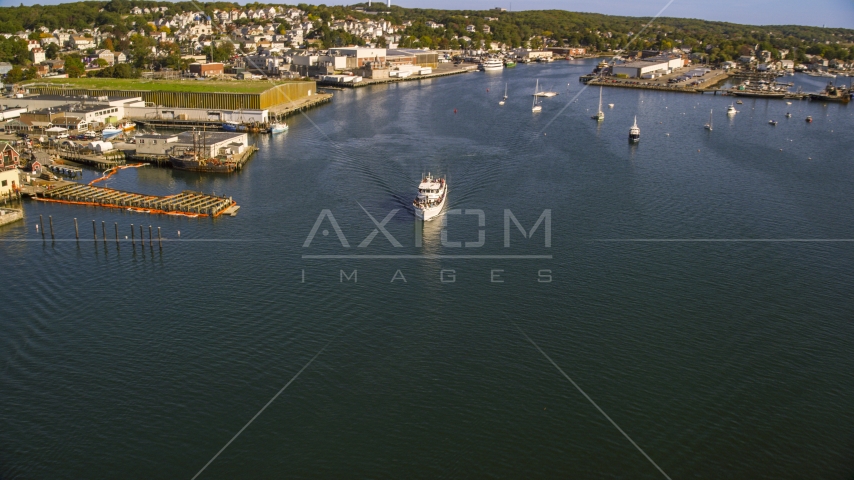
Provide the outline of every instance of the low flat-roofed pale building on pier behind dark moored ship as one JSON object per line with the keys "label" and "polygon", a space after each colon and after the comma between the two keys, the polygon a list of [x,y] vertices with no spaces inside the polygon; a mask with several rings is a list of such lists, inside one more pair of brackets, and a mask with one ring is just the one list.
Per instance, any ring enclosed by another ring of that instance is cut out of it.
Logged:
{"label": "low flat-roofed pale building on pier behind dark moored ship", "polygon": [[[194,138],[195,137],[195,138]],[[243,153],[249,146],[249,135],[235,132],[145,133],[134,137],[137,155],[168,155],[172,149],[204,148],[209,157]]]}

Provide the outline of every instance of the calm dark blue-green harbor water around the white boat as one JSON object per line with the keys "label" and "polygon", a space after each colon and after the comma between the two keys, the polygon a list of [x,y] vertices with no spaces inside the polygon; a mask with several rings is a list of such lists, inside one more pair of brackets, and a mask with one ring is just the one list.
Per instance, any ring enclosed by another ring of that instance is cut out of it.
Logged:
{"label": "calm dark blue-green harbor water around the white boat", "polygon": [[[199,478],[662,478],[525,335],[672,478],[851,478],[854,107],[607,88],[597,124],[592,65],[336,92],[238,175],[106,182],[234,218],[25,203],[0,478],[191,478],[295,375]],[[560,95],[532,114],[537,79]],[[428,171],[444,244],[410,207]],[[549,247],[512,220],[505,246],[506,210],[547,209]],[[349,247],[311,237],[325,210]]]}

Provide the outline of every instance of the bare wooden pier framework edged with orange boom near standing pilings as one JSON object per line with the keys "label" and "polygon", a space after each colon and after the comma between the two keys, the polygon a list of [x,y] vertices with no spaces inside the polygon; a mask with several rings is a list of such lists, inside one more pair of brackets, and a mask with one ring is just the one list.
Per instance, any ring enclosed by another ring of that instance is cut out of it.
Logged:
{"label": "bare wooden pier framework edged with orange boom near standing pilings", "polygon": [[121,208],[139,213],[189,217],[218,217],[223,213],[230,214],[237,211],[235,208],[237,204],[231,197],[217,197],[189,190],[177,195],[160,197],[81,183],[71,183],[42,191],[36,195],[35,199],[44,202]]}

